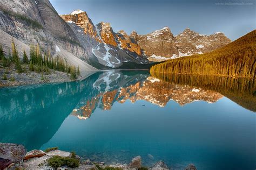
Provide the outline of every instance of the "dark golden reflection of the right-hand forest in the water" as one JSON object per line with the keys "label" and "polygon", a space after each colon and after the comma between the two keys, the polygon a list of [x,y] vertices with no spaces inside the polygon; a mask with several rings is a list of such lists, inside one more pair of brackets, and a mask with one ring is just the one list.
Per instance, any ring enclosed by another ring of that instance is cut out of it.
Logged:
{"label": "dark golden reflection of the right-hand forest in the water", "polygon": [[164,73],[152,73],[152,76],[169,83],[217,91],[242,107],[256,111],[255,79]]}

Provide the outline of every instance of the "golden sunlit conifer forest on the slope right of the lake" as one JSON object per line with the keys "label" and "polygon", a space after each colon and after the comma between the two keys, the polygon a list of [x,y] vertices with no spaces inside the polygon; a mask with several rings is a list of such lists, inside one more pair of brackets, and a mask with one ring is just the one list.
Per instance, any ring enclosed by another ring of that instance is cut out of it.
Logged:
{"label": "golden sunlit conifer forest on the slope right of the lake", "polygon": [[255,77],[256,30],[213,52],[168,60],[150,72]]}

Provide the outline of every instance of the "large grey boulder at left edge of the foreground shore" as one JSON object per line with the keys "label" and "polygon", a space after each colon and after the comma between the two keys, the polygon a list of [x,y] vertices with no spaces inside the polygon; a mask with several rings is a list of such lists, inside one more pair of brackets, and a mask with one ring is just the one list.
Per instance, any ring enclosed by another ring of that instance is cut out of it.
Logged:
{"label": "large grey boulder at left edge of the foreground shore", "polygon": [[0,158],[9,159],[12,162],[21,162],[26,154],[23,145],[0,143]]}

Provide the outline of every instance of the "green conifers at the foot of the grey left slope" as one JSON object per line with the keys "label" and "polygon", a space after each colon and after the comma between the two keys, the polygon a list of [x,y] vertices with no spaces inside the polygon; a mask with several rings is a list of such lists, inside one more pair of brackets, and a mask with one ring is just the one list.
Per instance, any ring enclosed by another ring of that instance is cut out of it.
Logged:
{"label": "green conifers at the foot of the grey left slope", "polygon": [[70,74],[71,80],[77,79],[77,76],[80,75],[79,66],[76,68],[73,65],[69,65],[68,62],[60,56],[53,58],[51,56],[50,49],[48,50],[48,53],[42,54],[41,48],[38,44],[37,46],[30,46],[30,60],[24,50],[23,60],[21,61],[18,57],[15,42],[12,39],[11,52],[9,52],[9,56],[7,57],[4,55],[2,45],[0,44],[0,59],[2,60],[2,65],[4,67],[8,67],[11,63],[14,63],[17,73],[23,73],[24,68],[22,68],[22,64],[28,64],[31,72],[50,73],[50,69],[53,69],[67,73],[67,75]]}

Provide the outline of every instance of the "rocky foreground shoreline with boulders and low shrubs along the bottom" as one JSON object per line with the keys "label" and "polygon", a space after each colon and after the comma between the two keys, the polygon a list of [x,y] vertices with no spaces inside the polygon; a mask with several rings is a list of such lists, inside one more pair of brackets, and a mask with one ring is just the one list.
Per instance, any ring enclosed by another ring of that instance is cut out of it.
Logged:
{"label": "rocky foreground shoreline with boulders and low shrubs along the bottom", "polygon": [[[138,155],[129,164],[107,165],[104,162],[83,160],[74,152],[60,151],[57,147],[47,150],[32,150],[19,144],[0,143],[0,169],[100,169],[100,170],[167,170],[168,167],[159,160],[150,167],[142,166],[142,158]],[[187,165],[185,170],[196,170],[193,164]]]}

